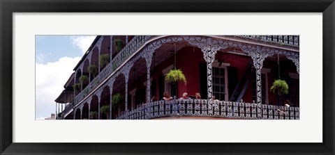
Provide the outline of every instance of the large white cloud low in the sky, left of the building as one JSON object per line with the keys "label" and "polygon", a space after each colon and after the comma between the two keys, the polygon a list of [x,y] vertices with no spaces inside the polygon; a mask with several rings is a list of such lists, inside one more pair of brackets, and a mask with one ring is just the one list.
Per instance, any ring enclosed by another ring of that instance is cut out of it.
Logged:
{"label": "large white cloud low in the sky, left of the building", "polygon": [[36,63],[36,119],[55,113],[54,99],[64,90],[64,84],[79,61],[80,57],[64,57],[54,63]]}

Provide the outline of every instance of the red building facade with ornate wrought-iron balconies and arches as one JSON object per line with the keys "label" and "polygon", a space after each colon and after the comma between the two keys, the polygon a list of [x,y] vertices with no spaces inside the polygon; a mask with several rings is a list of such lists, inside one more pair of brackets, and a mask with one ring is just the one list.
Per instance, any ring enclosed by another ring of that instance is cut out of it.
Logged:
{"label": "red building facade with ornate wrought-iron balconies and arches", "polygon": [[[165,79],[174,69],[187,82]],[[276,79],[287,94],[270,91]],[[57,119],[297,120],[299,35],[97,36],[55,101]]]}

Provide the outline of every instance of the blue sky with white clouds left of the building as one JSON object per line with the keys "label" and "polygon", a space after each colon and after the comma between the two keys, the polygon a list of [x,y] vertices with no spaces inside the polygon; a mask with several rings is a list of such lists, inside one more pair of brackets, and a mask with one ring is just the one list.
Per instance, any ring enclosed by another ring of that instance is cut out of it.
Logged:
{"label": "blue sky with white clouds left of the building", "polygon": [[[36,120],[55,113],[56,99],[96,35],[36,35]],[[58,111],[58,107],[57,107]]]}

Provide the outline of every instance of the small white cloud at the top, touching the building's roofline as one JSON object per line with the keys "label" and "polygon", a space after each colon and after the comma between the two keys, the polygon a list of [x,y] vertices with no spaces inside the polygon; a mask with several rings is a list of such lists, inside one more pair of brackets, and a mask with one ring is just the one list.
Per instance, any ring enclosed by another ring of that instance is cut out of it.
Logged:
{"label": "small white cloud at the top, touching the building's roofline", "polygon": [[92,42],[96,38],[96,35],[77,35],[71,37],[72,44],[82,51],[82,54],[85,54],[89,46],[91,46]]}

